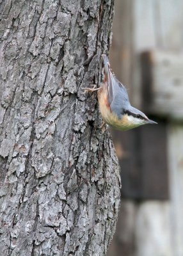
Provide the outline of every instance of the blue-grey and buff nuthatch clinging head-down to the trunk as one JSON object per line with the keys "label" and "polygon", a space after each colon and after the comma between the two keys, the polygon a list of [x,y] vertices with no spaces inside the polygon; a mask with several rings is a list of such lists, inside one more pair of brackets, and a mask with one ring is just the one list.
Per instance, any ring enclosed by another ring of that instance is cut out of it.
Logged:
{"label": "blue-grey and buff nuthatch clinging head-down to the trunk", "polygon": [[157,124],[150,120],[143,112],[131,106],[127,89],[116,78],[111,70],[109,59],[102,54],[104,62],[104,80],[99,88],[84,88],[84,92],[97,91],[99,109],[104,124],[120,130],[127,131],[140,125]]}

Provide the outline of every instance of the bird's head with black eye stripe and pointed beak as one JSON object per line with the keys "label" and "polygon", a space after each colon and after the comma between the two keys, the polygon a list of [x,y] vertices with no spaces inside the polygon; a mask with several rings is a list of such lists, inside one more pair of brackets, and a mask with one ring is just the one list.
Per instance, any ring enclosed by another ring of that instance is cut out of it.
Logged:
{"label": "bird's head with black eye stripe and pointed beak", "polygon": [[123,109],[123,131],[138,127],[144,124],[157,124],[141,111],[132,106],[129,106],[127,109]]}

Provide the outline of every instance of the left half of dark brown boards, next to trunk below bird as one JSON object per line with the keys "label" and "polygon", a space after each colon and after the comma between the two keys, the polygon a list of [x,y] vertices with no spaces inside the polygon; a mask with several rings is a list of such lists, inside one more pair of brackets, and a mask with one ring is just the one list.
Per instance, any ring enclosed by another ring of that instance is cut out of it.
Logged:
{"label": "left half of dark brown boards, next to trunk below bird", "polygon": [[141,152],[138,148],[140,138],[138,131],[113,132],[116,153],[122,168],[121,177],[123,182],[122,198],[140,199],[143,190],[141,168],[139,159]]}

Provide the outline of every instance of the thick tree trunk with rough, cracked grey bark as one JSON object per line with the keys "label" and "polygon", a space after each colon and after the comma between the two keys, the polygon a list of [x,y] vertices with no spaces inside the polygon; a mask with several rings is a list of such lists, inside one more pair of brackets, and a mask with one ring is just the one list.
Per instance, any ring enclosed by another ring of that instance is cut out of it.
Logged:
{"label": "thick tree trunk with rough, cracked grey bark", "polygon": [[101,131],[113,0],[1,0],[0,254],[106,255],[120,202]]}

